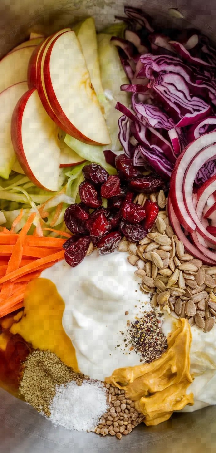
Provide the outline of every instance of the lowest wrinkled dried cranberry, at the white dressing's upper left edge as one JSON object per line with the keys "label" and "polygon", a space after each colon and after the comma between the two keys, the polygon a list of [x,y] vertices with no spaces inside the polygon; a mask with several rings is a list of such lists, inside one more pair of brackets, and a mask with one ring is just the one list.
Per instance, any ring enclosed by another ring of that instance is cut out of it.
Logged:
{"label": "lowest wrinkled dried cranberry, at the white dressing's upper left edge", "polygon": [[78,241],[68,247],[65,251],[66,263],[70,264],[71,267],[80,264],[85,258],[90,241],[89,236],[80,237]]}

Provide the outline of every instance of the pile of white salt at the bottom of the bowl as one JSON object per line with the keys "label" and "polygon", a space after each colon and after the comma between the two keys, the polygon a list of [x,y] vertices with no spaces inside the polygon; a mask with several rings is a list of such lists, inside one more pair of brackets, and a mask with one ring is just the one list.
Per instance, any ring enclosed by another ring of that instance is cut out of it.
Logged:
{"label": "pile of white salt at the bottom of the bowl", "polygon": [[107,389],[99,381],[75,381],[56,386],[50,411],[52,423],[77,431],[91,431],[108,410]]}

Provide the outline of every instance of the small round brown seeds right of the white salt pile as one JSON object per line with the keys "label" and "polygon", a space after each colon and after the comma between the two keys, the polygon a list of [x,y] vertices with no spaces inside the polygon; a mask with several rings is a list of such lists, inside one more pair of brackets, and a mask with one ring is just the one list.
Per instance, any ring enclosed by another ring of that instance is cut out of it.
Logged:
{"label": "small round brown seeds right of the white salt pile", "polygon": [[125,396],[125,391],[110,384],[105,384],[108,389],[109,410],[103,414],[99,420],[94,433],[106,436],[116,435],[117,439],[122,439],[122,434],[131,433],[144,419],[144,415],[139,414],[135,409],[135,403]]}

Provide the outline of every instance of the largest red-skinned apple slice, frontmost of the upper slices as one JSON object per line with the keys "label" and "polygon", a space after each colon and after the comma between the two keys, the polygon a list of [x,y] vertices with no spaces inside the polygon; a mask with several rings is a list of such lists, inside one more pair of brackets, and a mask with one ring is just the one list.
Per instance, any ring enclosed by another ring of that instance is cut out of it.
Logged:
{"label": "largest red-skinned apple slice, frontmost of the upper slices", "polygon": [[61,34],[50,43],[44,59],[44,82],[48,100],[63,130],[84,143],[110,143],[85,58],[73,31]]}

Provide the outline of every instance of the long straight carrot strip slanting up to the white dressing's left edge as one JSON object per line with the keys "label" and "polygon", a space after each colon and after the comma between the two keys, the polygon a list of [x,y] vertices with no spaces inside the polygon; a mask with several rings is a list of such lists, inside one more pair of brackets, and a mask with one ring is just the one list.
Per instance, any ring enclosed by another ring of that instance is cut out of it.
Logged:
{"label": "long straight carrot strip slanting up to the white dressing's left edge", "polygon": [[64,254],[65,251],[61,250],[60,252],[53,253],[52,255],[46,256],[45,258],[39,258],[38,260],[33,261],[33,263],[29,263],[28,265],[23,266],[5,275],[0,279],[0,283],[4,283],[5,281],[8,281],[15,277],[19,277],[21,275],[25,275],[31,270],[38,270],[38,267],[40,267],[41,265],[46,265],[47,263],[51,263],[53,261],[63,260]]}

